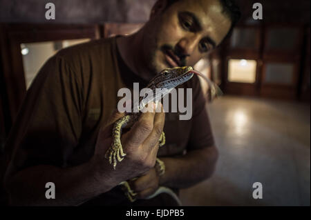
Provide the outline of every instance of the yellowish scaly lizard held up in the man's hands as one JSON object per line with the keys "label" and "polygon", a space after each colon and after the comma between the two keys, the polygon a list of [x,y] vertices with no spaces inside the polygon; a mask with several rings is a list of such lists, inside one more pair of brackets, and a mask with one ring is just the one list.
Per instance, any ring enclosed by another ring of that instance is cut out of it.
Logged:
{"label": "yellowish scaly lizard held up in the man's hands", "polygon": [[[139,103],[134,103],[133,108],[138,107],[138,110],[142,110],[144,106],[147,105],[147,103],[154,101],[158,102],[162,97],[164,97],[166,94],[171,92],[173,88],[176,86],[185,83],[191,77],[194,76],[194,71],[191,67],[185,66],[185,67],[176,67],[176,68],[167,68],[162,70],[159,74],[154,77],[150,83],[148,84],[147,88],[150,88],[153,90],[154,96],[150,99],[150,97],[144,97],[140,98]],[[167,89],[165,92],[162,92],[161,94],[156,94],[156,88],[162,88],[162,89]],[[136,105],[136,106],[135,106]],[[138,118],[140,117],[141,112],[135,113],[133,111],[131,113],[126,113],[124,117],[121,119],[117,120],[114,123],[113,126],[113,143],[111,144],[111,148],[107,150],[106,152],[106,159],[109,159],[109,163],[113,164],[113,169],[117,166],[117,162],[121,162],[124,157],[126,156],[126,153],[124,152],[122,148],[122,143],[121,143],[121,135],[122,135],[122,129],[123,128],[131,128],[133,126],[133,123],[135,121],[138,121]],[[165,143],[165,135],[164,132],[162,132],[160,139],[159,139],[159,146],[163,146]],[[160,161],[160,159],[157,159],[158,164],[160,166],[160,170],[164,170],[164,163]],[[129,183],[127,181],[123,181],[119,185],[123,186],[124,190],[126,191],[126,197],[130,201],[135,201],[135,192],[131,190]],[[175,199],[178,197],[176,194],[173,193],[169,188],[164,188],[160,187],[158,190],[152,194],[149,199],[155,197],[156,195],[162,193],[162,192],[167,192],[171,194],[172,197]],[[178,200],[180,203],[180,201]]]}

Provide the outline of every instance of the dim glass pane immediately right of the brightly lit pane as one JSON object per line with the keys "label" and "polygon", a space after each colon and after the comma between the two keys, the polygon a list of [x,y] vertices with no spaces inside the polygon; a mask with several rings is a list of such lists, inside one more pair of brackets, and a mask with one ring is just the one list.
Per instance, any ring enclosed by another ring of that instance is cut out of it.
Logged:
{"label": "dim glass pane immediately right of the brightly lit pane", "polygon": [[292,84],[293,72],[291,63],[267,63],[265,83]]}

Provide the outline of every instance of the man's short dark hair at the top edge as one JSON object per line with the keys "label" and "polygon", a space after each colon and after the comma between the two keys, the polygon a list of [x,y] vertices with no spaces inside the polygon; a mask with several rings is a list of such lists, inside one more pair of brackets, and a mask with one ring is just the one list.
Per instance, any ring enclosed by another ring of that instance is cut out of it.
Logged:
{"label": "man's short dark hair at the top edge", "polygon": [[[181,0],[167,0],[167,8],[169,8],[169,6],[171,6],[173,3],[176,3],[177,1]],[[238,20],[240,19],[241,11],[240,8],[238,8],[238,6],[236,5],[234,0],[218,0],[218,1],[220,1],[221,6],[223,7],[223,14],[227,15],[227,17],[229,17],[230,21],[232,22],[229,32],[223,39],[225,40],[227,39],[227,37],[230,36],[234,26],[236,25],[236,22],[238,22]]]}

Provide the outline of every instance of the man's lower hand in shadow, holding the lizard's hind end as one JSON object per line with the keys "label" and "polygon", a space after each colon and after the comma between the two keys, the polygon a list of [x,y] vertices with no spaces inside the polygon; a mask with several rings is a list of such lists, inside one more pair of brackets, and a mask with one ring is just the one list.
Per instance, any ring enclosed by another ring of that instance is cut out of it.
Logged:
{"label": "man's lower hand in shadow, holding the lizard's hind end", "polygon": [[144,173],[138,179],[129,181],[131,189],[137,193],[135,199],[146,199],[159,188],[160,177],[156,172],[156,168]]}

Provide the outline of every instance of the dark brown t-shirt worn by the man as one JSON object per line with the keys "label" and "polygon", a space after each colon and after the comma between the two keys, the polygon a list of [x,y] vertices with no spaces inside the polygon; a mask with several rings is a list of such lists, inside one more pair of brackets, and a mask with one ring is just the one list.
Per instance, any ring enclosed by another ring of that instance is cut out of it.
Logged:
{"label": "dark brown t-shirt worn by the man", "polygon": [[[122,98],[117,97],[117,91],[132,88],[133,82],[139,82],[140,89],[147,85],[126,67],[115,38],[66,48],[48,59],[30,86],[8,137],[7,174],[40,164],[66,168],[89,161],[100,127]],[[180,121],[179,113],[166,113],[166,144],[159,157],[214,145],[198,78],[182,87],[193,88],[192,118]],[[161,205],[165,198],[162,195],[150,203]],[[117,186],[87,204],[129,203]]]}

